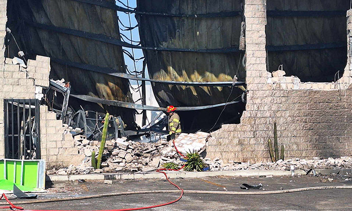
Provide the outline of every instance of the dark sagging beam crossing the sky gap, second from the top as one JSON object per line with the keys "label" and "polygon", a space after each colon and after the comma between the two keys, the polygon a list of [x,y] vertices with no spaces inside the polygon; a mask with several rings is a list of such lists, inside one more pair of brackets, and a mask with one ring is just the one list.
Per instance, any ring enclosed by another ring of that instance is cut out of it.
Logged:
{"label": "dark sagging beam crossing the sky gap, second from the top", "polygon": [[143,50],[151,50],[151,51],[169,51],[169,52],[196,52],[196,53],[235,53],[240,52],[238,48],[217,48],[217,49],[185,49],[185,48],[160,48],[160,47],[144,47],[139,45],[132,45],[130,43],[126,43],[121,41],[120,39],[116,39],[113,37],[109,37],[102,34],[89,33],[74,29],[56,27],[52,25],[40,24],[30,21],[25,21],[29,26],[54,31],[58,33],[73,35],[77,37],[83,37],[91,40],[97,40],[104,43],[109,43],[117,46],[122,46],[126,48],[135,48],[135,49],[143,49]]}

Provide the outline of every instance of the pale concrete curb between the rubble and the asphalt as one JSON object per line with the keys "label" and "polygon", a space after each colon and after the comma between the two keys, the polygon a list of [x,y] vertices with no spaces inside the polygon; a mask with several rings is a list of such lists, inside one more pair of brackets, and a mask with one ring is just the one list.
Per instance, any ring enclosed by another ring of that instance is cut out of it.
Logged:
{"label": "pale concrete curb between the rubble and the asphalt", "polygon": [[[352,169],[316,169],[321,174],[351,174]],[[295,170],[295,174],[305,174],[303,170]],[[237,170],[237,171],[205,171],[205,172],[167,172],[169,178],[197,178],[207,176],[287,176],[291,171],[285,170]],[[46,181],[73,181],[84,180],[115,180],[115,179],[164,179],[164,175],[157,172],[148,173],[107,173],[107,174],[74,174],[74,175],[49,175]]]}

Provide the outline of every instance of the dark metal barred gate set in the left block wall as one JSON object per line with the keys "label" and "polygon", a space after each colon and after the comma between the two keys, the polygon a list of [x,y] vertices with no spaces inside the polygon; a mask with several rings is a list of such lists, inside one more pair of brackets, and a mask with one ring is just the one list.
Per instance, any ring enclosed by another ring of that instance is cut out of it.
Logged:
{"label": "dark metal barred gate set in the left block wall", "polygon": [[5,158],[40,159],[38,99],[4,99]]}

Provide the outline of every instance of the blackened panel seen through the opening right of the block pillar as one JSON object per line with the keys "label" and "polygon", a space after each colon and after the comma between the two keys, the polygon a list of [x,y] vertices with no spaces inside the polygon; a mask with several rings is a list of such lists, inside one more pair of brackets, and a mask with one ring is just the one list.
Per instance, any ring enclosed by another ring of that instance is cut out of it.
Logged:
{"label": "blackened panel seen through the opening right of the block pillar", "polygon": [[268,1],[268,71],[283,64],[287,76],[303,82],[331,82],[337,71],[342,76],[349,7],[349,0]]}

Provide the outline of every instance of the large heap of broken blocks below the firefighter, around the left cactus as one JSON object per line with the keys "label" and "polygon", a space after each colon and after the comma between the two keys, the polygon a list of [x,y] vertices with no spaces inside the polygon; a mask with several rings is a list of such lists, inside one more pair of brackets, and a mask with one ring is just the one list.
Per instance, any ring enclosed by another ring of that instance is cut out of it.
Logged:
{"label": "large heap of broken blocks below the firefighter, around the left cactus", "polygon": [[[175,140],[176,146],[181,147],[183,153],[196,150],[203,152],[206,147],[206,138],[209,134],[181,134]],[[105,143],[101,169],[94,169],[91,164],[92,152],[98,157],[100,142],[89,141],[81,136],[75,136],[75,147],[85,159],[78,166],[69,166],[59,170],[52,169],[48,174],[87,174],[103,172],[148,172],[160,167],[163,163],[174,162],[182,164],[177,151],[171,141],[159,140],[155,143],[140,143],[127,141],[126,137],[108,140]]]}

